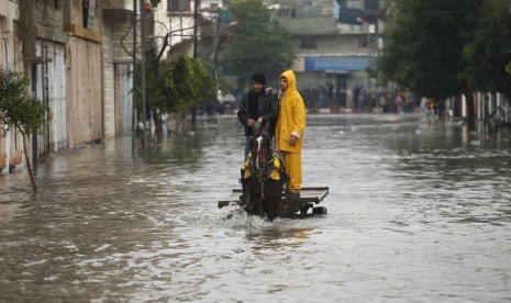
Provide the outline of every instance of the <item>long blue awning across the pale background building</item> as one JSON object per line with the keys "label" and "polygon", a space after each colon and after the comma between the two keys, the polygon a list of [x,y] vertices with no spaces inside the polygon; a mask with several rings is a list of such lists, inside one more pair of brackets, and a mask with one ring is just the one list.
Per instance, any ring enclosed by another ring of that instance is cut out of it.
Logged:
{"label": "long blue awning across the pale background building", "polygon": [[369,65],[367,57],[309,57],[306,58],[306,71],[325,71],[348,74],[365,70]]}

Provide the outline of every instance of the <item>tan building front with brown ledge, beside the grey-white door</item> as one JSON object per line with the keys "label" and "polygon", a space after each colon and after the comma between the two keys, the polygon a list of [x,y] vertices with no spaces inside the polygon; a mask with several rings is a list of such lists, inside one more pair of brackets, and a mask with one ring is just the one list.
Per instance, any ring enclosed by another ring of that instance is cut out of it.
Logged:
{"label": "tan building front with brown ledge, beside the grey-white door", "polygon": [[67,143],[69,148],[101,139],[102,120],[102,10],[96,1],[66,2],[64,30],[67,66]]}

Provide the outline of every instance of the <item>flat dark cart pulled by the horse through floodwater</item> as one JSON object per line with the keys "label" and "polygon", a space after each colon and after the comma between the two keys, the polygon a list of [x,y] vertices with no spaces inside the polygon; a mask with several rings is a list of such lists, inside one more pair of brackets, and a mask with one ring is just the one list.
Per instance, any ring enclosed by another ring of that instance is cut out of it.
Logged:
{"label": "flat dark cart pulled by the horse through floodwater", "polygon": [[[327,194],[327,187],[302,188],[300,198],[289,198],[282,194],[278,213],[280,216],[306,215],[312,209],[312,214],[326,214],[326,207],[314,206],[314,204],[321,203]],[[234,189],[227,199],[219,201],[220,209],[229,205],[244,206],[245,204],[246,199],[243,197],[243,189]]]}

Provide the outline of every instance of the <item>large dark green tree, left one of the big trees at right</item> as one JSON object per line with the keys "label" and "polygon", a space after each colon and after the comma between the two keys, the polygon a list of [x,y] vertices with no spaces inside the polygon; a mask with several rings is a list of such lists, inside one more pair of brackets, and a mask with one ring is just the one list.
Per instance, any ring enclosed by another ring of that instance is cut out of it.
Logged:
{"label": "large dark green tree, left one of the big trees at right", "polygon": [[475,128],[475,88],[459,78],[468,65],[464,49],[477,26],[479,0],[389,0],[389,26],[378,68],[384,77],[435,99],[465,93]]}

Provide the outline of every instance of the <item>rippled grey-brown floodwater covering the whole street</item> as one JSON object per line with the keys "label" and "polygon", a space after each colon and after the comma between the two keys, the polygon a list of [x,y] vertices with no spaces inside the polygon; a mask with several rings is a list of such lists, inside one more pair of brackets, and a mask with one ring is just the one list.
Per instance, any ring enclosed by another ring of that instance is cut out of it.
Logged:
{"label": "rippled grey-brown floodwater covering the whole street", "polygon": [[131,138],[60,152],[36,197],[0,176],[0,301],[511,301],[510,134],[310,115],[303,186],[330,187],[329,214],[274,222],[216,206],[241,134],[222,116],[145,158]]}

